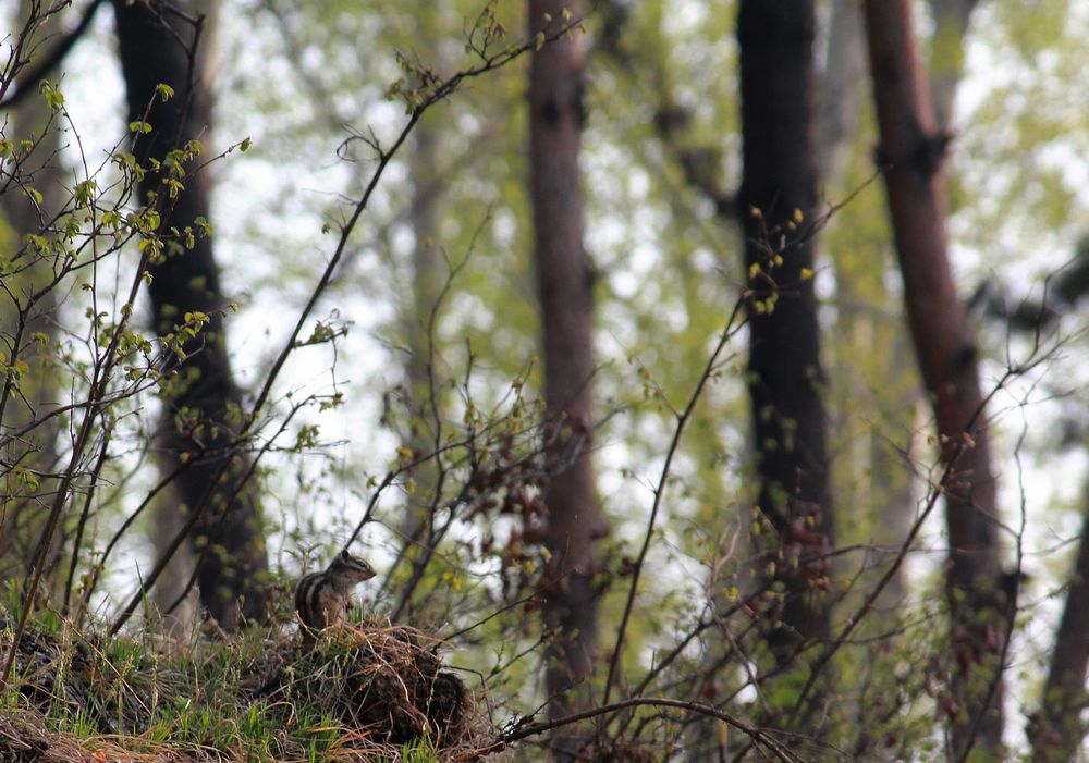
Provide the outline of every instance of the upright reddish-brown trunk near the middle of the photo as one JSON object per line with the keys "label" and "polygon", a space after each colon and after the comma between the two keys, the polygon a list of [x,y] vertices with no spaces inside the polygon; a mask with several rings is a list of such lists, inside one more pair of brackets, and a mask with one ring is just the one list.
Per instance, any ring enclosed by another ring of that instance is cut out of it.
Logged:
{"label": "upright reddish-brown trunk near the middle of the photo", "polygon": [[[553,32],[566,0],[530,0],[530,34]],[[546,20],[546,14],[552,21]],[[578,152],[583,130],[583,53],[577,38],[562,37],[534,53],[529,75],[529,143],[535,261],[543,323],[544,399],[561,428],[553,463],[578,456],[554,475],[546,503],[552,554],[546,571],[547,688],[552,717],[585,706],[597,649],[594,540],[602,533],[589,457],[592,429],[590,381],[592,306],[590,269],[583,248],[583,194]],[[560,759],[576,741],[553,737]]]}

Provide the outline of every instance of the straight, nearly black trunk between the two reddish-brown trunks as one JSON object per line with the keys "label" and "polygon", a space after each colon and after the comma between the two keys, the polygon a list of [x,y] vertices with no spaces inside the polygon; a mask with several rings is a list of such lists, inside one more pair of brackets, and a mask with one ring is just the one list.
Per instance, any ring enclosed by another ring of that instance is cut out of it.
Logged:
{"label": "straight, nearly black trunk between the two reddish-brown trunks", "polygon": [[[749,395],[759,507],[778,538],[766,549],[785,587],[780,627],[768,633],[780,665],[829,632],[822,565],[792,564],[832,541],[824,374],[812,280],[813,243],[797,224],[816,207],[813,7],[810,0],[743,0],[741,45],[745,227],[750,303]],[[781,257],[781,261],[778,258]],[[778,299],[767,305],[769,299]],[[767,307],[757,309],[757,304]],[[769,565],[764,565],[768,569]]]}

